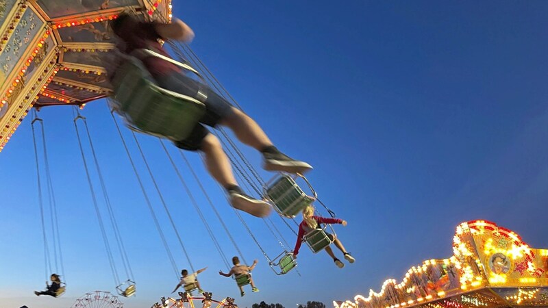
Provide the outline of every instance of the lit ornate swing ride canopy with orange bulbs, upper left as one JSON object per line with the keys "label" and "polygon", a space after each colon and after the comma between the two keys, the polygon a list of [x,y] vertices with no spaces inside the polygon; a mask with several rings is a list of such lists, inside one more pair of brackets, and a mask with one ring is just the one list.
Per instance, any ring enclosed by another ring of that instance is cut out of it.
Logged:
{"label": "lit ornate swing ride canopy with orange bulbs, upper left", "polygon": [[33,106],[82,106],[112,93],[108,21],[125,10],[171,20],[170,0],[0,1],[0,151]]}

